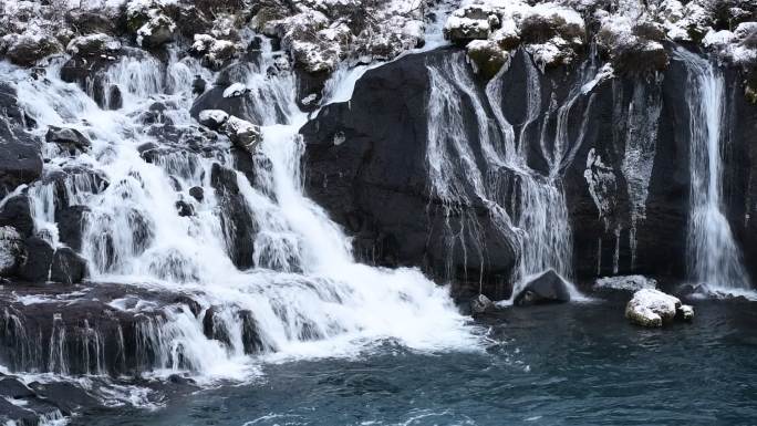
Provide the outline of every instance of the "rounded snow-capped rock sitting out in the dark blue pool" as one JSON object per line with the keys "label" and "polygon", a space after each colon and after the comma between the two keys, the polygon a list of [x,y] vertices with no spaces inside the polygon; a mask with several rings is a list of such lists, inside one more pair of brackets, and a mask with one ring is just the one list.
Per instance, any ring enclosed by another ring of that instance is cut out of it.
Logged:
{"label": "rounded snow-capped rock sitting out in the dark blue pool", "polygon": [[625,305],[625,318],[642,326],[662,326],[676,316],[689,321],[694,318],[694,308],[682,305],[678,298],[660,290],[639,290]]}

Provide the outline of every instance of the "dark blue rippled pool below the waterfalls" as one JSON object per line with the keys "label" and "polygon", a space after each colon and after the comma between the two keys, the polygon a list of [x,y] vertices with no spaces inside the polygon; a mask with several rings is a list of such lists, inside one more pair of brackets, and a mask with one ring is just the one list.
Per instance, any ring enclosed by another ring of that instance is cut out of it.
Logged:
{"label": "dark blue rippled pool below the waterfalls", "polygon": [[757,303],[696,303],[691,324],[634,328],[622,301],[507,309],[477,353],[390,343],[353,360],[268,364],[259,383],[86,425],[649,425],[757,422]]}

